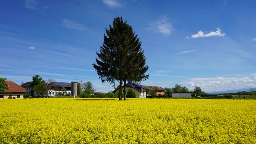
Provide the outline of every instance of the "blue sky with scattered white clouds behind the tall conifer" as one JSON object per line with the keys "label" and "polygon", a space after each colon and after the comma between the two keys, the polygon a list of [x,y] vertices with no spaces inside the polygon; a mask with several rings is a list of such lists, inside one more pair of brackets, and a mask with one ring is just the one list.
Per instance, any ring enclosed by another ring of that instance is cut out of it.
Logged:
{"label": "blue sky with scattered white clouds behind the tall conifer", "polygon": [[255,0],[1,0],[0,77],[20,84],[39,74],[114,90],[92,63],[117,16],[142,42],[149,78],[141,84],[256,87]]}

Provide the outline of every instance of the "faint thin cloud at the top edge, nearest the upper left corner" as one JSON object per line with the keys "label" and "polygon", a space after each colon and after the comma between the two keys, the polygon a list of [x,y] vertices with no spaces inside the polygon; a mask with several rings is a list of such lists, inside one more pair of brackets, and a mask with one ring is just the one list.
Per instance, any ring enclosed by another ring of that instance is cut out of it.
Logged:
{"label": "faint thin cloud at the top edge, nearest the upper left corner", "polygon": [[40,14],[47,16],[45,10],[48,9],[49,6],[38,7],[37,2],[35,0],[26,0],[24,4],[25,4],[24,6],[25,8],[38,11]]}

